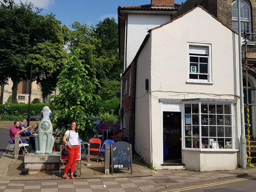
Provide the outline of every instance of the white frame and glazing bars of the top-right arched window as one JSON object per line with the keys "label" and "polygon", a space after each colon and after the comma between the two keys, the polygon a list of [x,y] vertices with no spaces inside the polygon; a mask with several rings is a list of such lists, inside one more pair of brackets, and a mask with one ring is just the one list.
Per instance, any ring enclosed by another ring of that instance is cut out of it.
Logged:
{"label": "white frame and glazing bars of the top-right arched window", "polygon": [[[231,5],[231,9],[232,9],[232,6],[233,6],[233,4],[236,4],[236,1],[234,1],[233,3],[232,3],[232,5]],[[244,11],[243,11],[243,8],[242,8],[242,6],[244,5],[244,4],[247,4],[247,6],[249,7],[249,20],[244,20],[243,18],[241,18],[241,33],[244,33],[244,22],[245,23],[248,23],[248,26],[249,26],[249,33],[251,33],[251,31],[252,31],[252,20],[251,20],[251,6],[250,6],[250,4],[247,2],[247,1],[243,1],[243,0],[241,0],[240,1],[240,9],[241,9],[241,13],[243,12],[243,15],[244,15]],[[235,10],[236,12],[237,12],[237,9],[232,9],[232,11],[233,10]],[[231,13],[232,14],[232,13]],[[233,15],[232,15],[232,22],[236,22],[237,24],[237,28],[238,28],[238,18],[236,17],[233,17]],[[233,23],[232,23],[232,29],[234,30],[234,31],[236,31],[237,32],[237,28],[233,28]]]}

